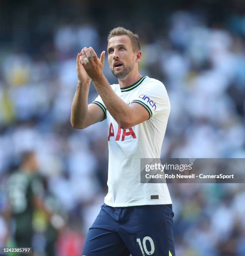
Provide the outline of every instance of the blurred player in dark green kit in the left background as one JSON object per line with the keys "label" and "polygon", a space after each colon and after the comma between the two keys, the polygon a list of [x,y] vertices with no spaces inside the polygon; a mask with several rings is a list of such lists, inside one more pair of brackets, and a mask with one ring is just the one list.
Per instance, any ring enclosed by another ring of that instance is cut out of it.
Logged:
{"label": "blurred player in dark green kit in the left background", "polygon": [[42,181],[37,174],[34,152],[25,152],[20,169],[16,170],[7,184],[10,211],[14,223],[16,246],[31,247],[33,236],[33,214],[39,208],[39,197],[43,194]]}

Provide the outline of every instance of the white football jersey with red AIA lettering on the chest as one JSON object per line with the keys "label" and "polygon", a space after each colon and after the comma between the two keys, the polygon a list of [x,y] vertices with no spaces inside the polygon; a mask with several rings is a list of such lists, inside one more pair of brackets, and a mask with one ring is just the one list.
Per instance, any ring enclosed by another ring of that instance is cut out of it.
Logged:
{"label": "white football jersey with red AIA lettering on the chest", "polygon": [[100,96],[92,102],[104,111],[108,125],[108,193],[105,204],[112,207],[171,204],[166,183],[140,183],[140,159],[160,158],[170,113],[164,84],[144,76],[128,87],[120,88],[119,84],[111,87],[128,105],[133,102],[142,105],[148,111],[149,119],[132,128],[121,129]]}

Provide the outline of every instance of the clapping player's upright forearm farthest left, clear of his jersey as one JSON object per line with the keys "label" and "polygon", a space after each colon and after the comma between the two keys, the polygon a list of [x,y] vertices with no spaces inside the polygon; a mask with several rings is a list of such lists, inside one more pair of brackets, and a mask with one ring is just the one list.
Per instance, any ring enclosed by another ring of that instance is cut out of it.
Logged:
{"label": "clapping player's upright forearm farthest left, clear of his jersey", "polygon": [[77,89],[72,101],[71,124],[73,128],[83,128],[87,118],[87,97],[89,84],[77,83]]}

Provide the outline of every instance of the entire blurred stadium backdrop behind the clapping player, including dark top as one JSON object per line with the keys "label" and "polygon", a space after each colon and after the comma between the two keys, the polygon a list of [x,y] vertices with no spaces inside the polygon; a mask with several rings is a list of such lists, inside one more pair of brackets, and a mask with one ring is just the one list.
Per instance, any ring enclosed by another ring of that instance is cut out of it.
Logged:
{"label": "entire blurred stadium backdrop behind the clapping player, including dark top", "polygon": [[[163,157],[245,157],[244,0],[1,0],[0,19],[0,247],[28,233],[35,255],[80,255],[107,192],[107,128],[70,125],[75,60],[113,27],[139,34],[141,74],[168,90]],[[245,255],[244,184],[169,189],[177,256]]]}

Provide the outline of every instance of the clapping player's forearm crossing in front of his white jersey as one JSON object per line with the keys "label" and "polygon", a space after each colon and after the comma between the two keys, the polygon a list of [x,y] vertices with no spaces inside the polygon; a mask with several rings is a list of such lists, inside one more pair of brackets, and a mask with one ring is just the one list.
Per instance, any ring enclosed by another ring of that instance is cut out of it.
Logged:
{"label": "clapping player's forearm crossing in front of his white jersey", "polygon": [[97,81],[93,81],[93,83],[112,117],[117,121],[121,128],[127,127],[133,116],[133,110],[130,106],[113,92],[104,75]]}

